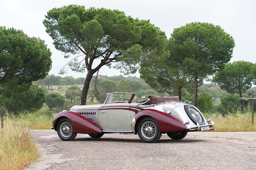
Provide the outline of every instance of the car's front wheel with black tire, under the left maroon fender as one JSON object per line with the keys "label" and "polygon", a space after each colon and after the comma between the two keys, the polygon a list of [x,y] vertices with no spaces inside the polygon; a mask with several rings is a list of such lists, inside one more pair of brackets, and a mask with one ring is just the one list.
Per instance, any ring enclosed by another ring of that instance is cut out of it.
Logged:
{"label": "car's front wheel with black tire, under the left maroon fender", "polygon": [[76,137],[73,127],[68,118],[63,118],[58,122],[57,133],[61,140],[72,141]]}

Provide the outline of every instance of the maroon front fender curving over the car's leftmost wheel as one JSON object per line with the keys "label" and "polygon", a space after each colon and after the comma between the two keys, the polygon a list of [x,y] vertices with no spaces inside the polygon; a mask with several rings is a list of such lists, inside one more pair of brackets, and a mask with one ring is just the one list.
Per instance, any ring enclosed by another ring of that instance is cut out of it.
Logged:
{"label": "maroon front fender curving over the car's leftmost wheel", "polygon": [[57,131],[58,121],[64,117],[71,121],[74,133],[95,134],[102,132],[100,128],[94,125],[90,120],[71,111],[62,111],[53,118],[52,126],[55,131]]}

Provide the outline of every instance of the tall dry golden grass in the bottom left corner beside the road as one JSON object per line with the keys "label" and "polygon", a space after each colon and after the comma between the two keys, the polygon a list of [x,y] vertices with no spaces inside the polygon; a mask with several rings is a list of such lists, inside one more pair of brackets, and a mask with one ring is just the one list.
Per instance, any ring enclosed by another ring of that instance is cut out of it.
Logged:
{"label": "tall dry golden grass in the bottom left corner beside the road", "polygon": [[23,169],[39,156],[28,126],[14,117],[4,117],[0,128],[0,169]]}

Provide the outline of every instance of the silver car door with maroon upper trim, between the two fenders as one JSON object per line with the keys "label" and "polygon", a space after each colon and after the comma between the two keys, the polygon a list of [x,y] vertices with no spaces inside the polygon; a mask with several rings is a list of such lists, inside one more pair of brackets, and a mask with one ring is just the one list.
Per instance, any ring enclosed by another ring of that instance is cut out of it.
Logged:
{"label": "silver car door with maroon upper trim, between the two fenders", "polygon": [[99,121],[104,130],[131,131],[130,104],[104,104],[99,109]]}

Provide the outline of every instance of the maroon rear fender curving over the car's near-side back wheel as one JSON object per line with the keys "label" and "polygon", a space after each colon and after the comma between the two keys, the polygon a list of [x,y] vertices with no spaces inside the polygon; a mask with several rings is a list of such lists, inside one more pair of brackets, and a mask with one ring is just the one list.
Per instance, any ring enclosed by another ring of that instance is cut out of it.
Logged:
{"label": "maroon rear fender curving over the car's near-side back wheel", "polygon": [[174,117],[170,116],[169,114],[166,114],[166,113],[158,111],[158,110],[145,109],[145,110],[138,112],[134,116],[135,121],[133,121],[132,128],[133,128],[135,134],[137,133],[140,119],[145,116],[150,116],[156,120],[159,131],[161,133],[180,132],[183,130],[187,130],[187,127],[185,125],[183,125],[179,120],[175,119]]}

